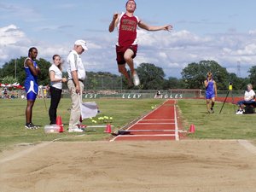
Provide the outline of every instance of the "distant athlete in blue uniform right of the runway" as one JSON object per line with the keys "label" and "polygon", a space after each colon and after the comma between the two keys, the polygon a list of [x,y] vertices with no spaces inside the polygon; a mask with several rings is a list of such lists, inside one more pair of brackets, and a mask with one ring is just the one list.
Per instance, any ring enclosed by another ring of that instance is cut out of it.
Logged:
{"label": "distant athlete in blue uniform right of the runway", "polygon": [[[206,99],[207,99],[207,113],[214,113],[213,107],[215,104],[215,97],[217,96],[217,85],[212,79],[212,73],[207,73],[207,80],[205,80]],[[212,103],[211,103],[212,102]]]}

